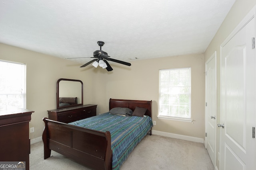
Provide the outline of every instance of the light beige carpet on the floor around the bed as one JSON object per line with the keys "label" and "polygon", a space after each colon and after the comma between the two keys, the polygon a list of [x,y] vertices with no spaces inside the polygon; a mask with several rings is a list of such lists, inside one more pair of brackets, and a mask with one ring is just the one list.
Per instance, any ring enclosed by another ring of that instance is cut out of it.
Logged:
{"label": "light beige carpet on the floor around the bed", "polygon": [[[30,152],[30,170],[90,170],[54,151],[44,160],[42,142],[31,145]],[[202,143],[147,135],[120,170],[214,170],[214,166]]]}

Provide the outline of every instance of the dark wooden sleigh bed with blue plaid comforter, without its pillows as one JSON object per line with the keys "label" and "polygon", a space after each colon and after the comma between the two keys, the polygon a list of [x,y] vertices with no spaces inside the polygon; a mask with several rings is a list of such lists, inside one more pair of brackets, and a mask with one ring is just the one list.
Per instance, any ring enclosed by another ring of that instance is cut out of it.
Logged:
{"label": "dark wooden sleigh bed with blue plaid comforter, without its pillows", "polygon": [[[123,116],[113,113],[117,108],[129,108],[133,113],[144,108],[146,112]],[[152,134],[152,101],[110,99],[109,109],[69,124],[44,118],[44,159],[54,150],[92,169],[120,169],[132,149]]]}

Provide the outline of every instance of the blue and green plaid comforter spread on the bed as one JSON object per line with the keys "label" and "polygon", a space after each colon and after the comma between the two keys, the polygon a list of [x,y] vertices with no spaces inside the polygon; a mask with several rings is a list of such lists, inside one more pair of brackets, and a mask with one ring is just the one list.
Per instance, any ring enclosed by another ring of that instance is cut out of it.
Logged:
{"label": "blue and green plaid comforter spread on the bed", "polygon": [[120,169],[130,152],[153,126],[149,116],[124,117],[109,112],[69,124],[102,132],[110,131],[113,170]]}

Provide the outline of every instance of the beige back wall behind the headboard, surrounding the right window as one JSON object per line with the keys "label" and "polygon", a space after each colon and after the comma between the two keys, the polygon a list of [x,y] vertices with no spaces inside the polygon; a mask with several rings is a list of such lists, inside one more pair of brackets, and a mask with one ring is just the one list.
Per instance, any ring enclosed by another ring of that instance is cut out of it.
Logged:
{"label": "beige back wall behind the headboard, surrounding the right window", "polygon": [[[203,54],[148,59],[131,62],[132,66],[110,63],[112,72],[94,72],[93,103],[98,113],[108,111],[108,100],[152,100],[153,130],[204,138],[204,56]],[[159,69],[191,67],[193,123],[158,119]],[[98,70],[98,69],[97,69]]]}

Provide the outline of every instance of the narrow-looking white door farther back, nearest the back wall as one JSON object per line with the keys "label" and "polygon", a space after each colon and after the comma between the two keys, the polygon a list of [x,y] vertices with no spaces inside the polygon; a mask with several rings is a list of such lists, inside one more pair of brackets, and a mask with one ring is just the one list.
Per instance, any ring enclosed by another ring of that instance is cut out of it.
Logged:
{"label": "narrow-looking white door farther back, nearest the back wall", "polygon": [[205,64],[206,90],[206,149],[216,166],[216,121],[217,121],[217,84],[216,84],[216,51]]}

